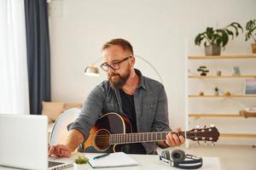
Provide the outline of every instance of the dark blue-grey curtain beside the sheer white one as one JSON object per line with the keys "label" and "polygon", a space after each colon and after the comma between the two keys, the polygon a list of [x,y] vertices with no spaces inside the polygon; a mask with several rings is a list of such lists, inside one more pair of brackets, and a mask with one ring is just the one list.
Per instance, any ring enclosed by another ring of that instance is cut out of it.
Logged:
{"label": "dark blue-grey curtain beside the sheer white one", "polygon": [[46,0],[25,0],[30,113],[40,115],[50,101],[49,24]]}

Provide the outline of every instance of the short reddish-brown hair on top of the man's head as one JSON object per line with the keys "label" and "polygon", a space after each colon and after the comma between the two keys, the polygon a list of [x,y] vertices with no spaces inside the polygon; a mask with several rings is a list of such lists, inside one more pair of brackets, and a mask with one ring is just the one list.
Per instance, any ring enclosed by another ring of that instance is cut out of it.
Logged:
{"label": "short reddish-brown hair on top of the man's head", "polygon": [[121,48],[123,48],[124,51],[129,51],[133,55],[133,49],[132,49],[131,43],[122,38],[115,38],[110,40],[109,42],[104,43],[102,46],[102,50],[109,48],[113,45],[119,45]]}

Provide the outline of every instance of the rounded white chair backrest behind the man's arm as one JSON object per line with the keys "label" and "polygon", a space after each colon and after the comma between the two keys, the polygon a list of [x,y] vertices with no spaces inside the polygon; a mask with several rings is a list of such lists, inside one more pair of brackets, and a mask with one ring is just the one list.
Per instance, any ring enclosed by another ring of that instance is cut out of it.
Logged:
{"label": "rounded white chair backrest behind the man's arm", "polygon": [[64,144],[67,137],[67,125],[74,122],[81,112],[78,108],[69,109],[64,111],[55,121],[50,134],[50,145]]}

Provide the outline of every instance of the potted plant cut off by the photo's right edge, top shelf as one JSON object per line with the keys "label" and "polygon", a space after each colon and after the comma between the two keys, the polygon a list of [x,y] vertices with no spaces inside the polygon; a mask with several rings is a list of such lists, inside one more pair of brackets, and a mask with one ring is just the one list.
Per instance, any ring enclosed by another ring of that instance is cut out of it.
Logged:
{"label": "potted plant cut off by the photo's right edge, top shelf", "polygon": [[246,41],[253,38],[254,43],[252,43],[252,49],[253,54],[256,54],[256,20],[247,21],[246,31]]}

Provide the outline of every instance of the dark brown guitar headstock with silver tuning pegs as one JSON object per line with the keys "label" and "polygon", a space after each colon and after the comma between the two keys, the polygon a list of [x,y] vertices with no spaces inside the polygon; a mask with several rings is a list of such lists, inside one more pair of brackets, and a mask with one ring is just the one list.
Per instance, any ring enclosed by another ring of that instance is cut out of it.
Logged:
{"label": "dark brown guitar headstock with silver tuning pegs", "polygon": [[210,141],[217,142],[219,137],[218,129],[214,126],[211,127],[198,127],[187,131],[187,139],[194,141]]}

